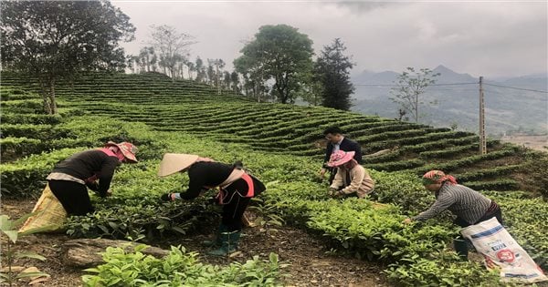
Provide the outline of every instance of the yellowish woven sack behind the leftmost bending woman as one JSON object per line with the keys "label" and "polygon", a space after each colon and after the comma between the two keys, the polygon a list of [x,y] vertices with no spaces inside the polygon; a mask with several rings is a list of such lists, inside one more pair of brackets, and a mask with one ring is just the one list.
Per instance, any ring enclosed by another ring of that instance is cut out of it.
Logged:
{"label": "yellowish woven sack behind the leftmost bending woman", "polygon": [[25,221],[19,229],[19,233],[35,229],[41,231],[58,231],[67,219],[67,211],[47,185],[44,191],[42,191],[42,195],[38,199],[32,213],[36,214]]}

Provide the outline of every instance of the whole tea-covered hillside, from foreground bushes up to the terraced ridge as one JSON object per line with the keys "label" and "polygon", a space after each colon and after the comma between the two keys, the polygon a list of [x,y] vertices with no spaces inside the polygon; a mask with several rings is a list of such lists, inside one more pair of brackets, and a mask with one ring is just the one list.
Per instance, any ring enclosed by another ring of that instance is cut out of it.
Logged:
{"label": "whole tea-covered hillside, from foreground bushes up to the terraced ridge", "polygon": [[[541,153],[490,140],[490,153],[479,157],[473,134],[330,108],[258,104],[158,74],[93,74],[60,85],[59,115],[49,116],[40,112],[32,79],[2,77],[3,214],[17,218],[29,211],[60,159],[107,140],[128,140],[139,148],[139,163],[116,170],[111,197],[91,195],[94,213],[69,217],[65,234],[17,242],[19,251],[47,256],[45,263],[37,263],[52,273],[46,285],[183,280],[211,286],[503,285],[479,263],[478,254],[463,261],[452,250],[458,230],[447,215],[426,224],[402,223],[434,200],[417,177],[433,168],[460,170],[461,182],[486,190],[524,190],[485,192],[501,205],[512,236],[541,268],[548,268],[548,204],[532,198],[532,192],[545,192],[548,186],[542,166],[548,161]],[[390,148],[383,156],[366,158],[375,180],[368,199],[332,199],[326,179],[317,178],[321,130],[332,124],[350,130],[365,153]],[[266,184],[267,191],[248,209],[256,226],[243,230],[234,256],[205,255],[208,249],[199,244],[216,229],[219,207],[209,198],[214,190],[195,200],[159,200],[188,184],[185,174],[157,176],[165,152],[242,160]],[[134,251],[107,250],[97,267],[102,273],[90,276],[68,268],[58,255],[71,238],[99,237],[145,242],[171,249],[174,256],[154,260],[153,266],[152,259],[143,260]]]}

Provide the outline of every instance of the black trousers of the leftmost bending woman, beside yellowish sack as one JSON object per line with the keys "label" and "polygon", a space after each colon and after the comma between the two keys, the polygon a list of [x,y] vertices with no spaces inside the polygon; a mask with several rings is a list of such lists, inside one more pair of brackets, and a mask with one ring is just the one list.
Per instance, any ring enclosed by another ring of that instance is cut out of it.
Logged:
{"label": "black trousers of the leftmost bending woman, beside yellowish sack", "polygon": [[67,210],[68,215],[86,215],[95,211],[85,185],[69,180],[48,180],[47,182],[49,189]]}

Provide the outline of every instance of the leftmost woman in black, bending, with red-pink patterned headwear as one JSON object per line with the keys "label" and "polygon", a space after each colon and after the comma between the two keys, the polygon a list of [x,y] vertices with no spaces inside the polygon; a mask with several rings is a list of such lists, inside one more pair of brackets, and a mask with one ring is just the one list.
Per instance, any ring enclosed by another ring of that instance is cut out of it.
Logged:
{"label": "leftmost woman in black, bending, with red-pink patterned headwear", "polygon": [[47,184],[68,215],[85,215],[94,211],[86,187],[101,197],[109,195],[114,170],[122,162],[137,162],[135,153],[132,143],[109,141],[102,149],[85,150],[59,162]]}

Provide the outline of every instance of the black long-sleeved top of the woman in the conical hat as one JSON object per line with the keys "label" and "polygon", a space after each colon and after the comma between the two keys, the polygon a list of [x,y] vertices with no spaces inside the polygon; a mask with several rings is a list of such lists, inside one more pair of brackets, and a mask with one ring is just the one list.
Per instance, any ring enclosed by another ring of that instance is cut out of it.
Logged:
{"label": "black long-sleeved top of the woman in the conical hat", "polygon": [[192,200],[200,191],[217,187],[228,178],[234,169],[231,165],[216,161],[198,161],[188,169],[188,189],[181,193],[181,199]]}

